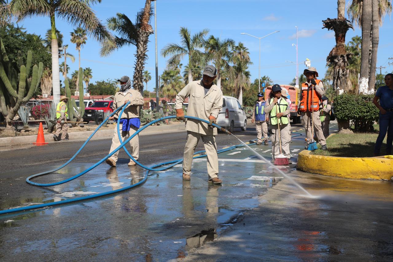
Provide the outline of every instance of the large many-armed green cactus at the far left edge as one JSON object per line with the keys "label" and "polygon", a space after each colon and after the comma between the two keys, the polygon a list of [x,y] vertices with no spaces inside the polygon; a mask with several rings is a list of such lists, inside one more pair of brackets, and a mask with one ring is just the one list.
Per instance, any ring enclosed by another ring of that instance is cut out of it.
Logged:
{"label": "large many-armed green cactus at the far left edge", "polygon": [[[12,122],[20,105],[31,99],[37,91],[44,65],[34,65],[31,70],[31,51],[27,53],[26,65],[23,64],[22,53],[18,52],[17,64],[7,57],[6,49],[0,38],[0,112],[6,117],[7,128],[12,128]],[[15,68],[18,66],[19,73]]]}

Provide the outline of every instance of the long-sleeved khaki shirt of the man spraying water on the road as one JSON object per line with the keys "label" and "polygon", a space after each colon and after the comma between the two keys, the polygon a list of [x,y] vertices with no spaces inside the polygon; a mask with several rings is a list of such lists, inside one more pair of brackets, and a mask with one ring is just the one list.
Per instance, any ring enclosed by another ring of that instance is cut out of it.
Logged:
{"label": "long-sleeved khaki shirt of the man spraying water on the road", "polygon": [[[217,119],[222,108],[222,91],[218,86],[213,84],[205,95],[202,80],[190,82],[176,95],[176,109],[182,108],[186,97],[189,97],[187,115],[205,120],[213,115]],[[186,120],[185,130],[208,136],[217,135],[217,128],[194,119]]]}

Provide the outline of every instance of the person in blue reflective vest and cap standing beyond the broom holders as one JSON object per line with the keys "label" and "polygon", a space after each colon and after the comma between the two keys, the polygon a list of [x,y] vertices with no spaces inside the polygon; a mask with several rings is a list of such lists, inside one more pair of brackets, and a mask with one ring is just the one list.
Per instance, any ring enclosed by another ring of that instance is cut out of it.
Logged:
{"label": "person in blue reflective vest and cap standing beyond the broom holders", "polygon": [[[255,129],[257,130],[257,145],[261,145],[264,142],[264,145],[268,144],[268,121],[269,117],[267,117],[264,107],[265,107],[265,99],[263,97],[263,93],[258,93],[258,100],[254,104],[254,108],[252,110],[251,122],[255,121]],[[263,139],[262,139],[263,135]]]}

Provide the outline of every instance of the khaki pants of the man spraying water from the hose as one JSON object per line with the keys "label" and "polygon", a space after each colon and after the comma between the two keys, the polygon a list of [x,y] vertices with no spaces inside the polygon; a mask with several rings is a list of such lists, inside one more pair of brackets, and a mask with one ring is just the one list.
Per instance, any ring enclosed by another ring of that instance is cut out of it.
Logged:
{"label": "khaki pants of the man spraying water from the hose", "polygon": [[187,131],[187,139],[185,141],[184,156],[183,156],[183,173],[191,174],[191,164],[193,163],[193,156],[196,145],[199,139],[202,138],[203,145],[208,156],[208,175],[209,179],[217,178],[219,174],[219,157],[217,155],[217,145],[215,136],[206,136],[196,132]]}

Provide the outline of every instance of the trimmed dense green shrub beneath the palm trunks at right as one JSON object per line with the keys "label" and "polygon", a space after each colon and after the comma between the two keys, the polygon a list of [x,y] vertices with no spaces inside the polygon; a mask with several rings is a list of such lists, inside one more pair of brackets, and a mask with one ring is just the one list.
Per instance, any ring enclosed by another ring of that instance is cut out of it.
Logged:
{"label": "trimmed dense green shrub beneath the palm trunks at right", "polygon": [[369,132],[378,121],[379,110],[374,95],[342,94],[334,98],[334,115],[338,121],[351,121],[355,131]]}

